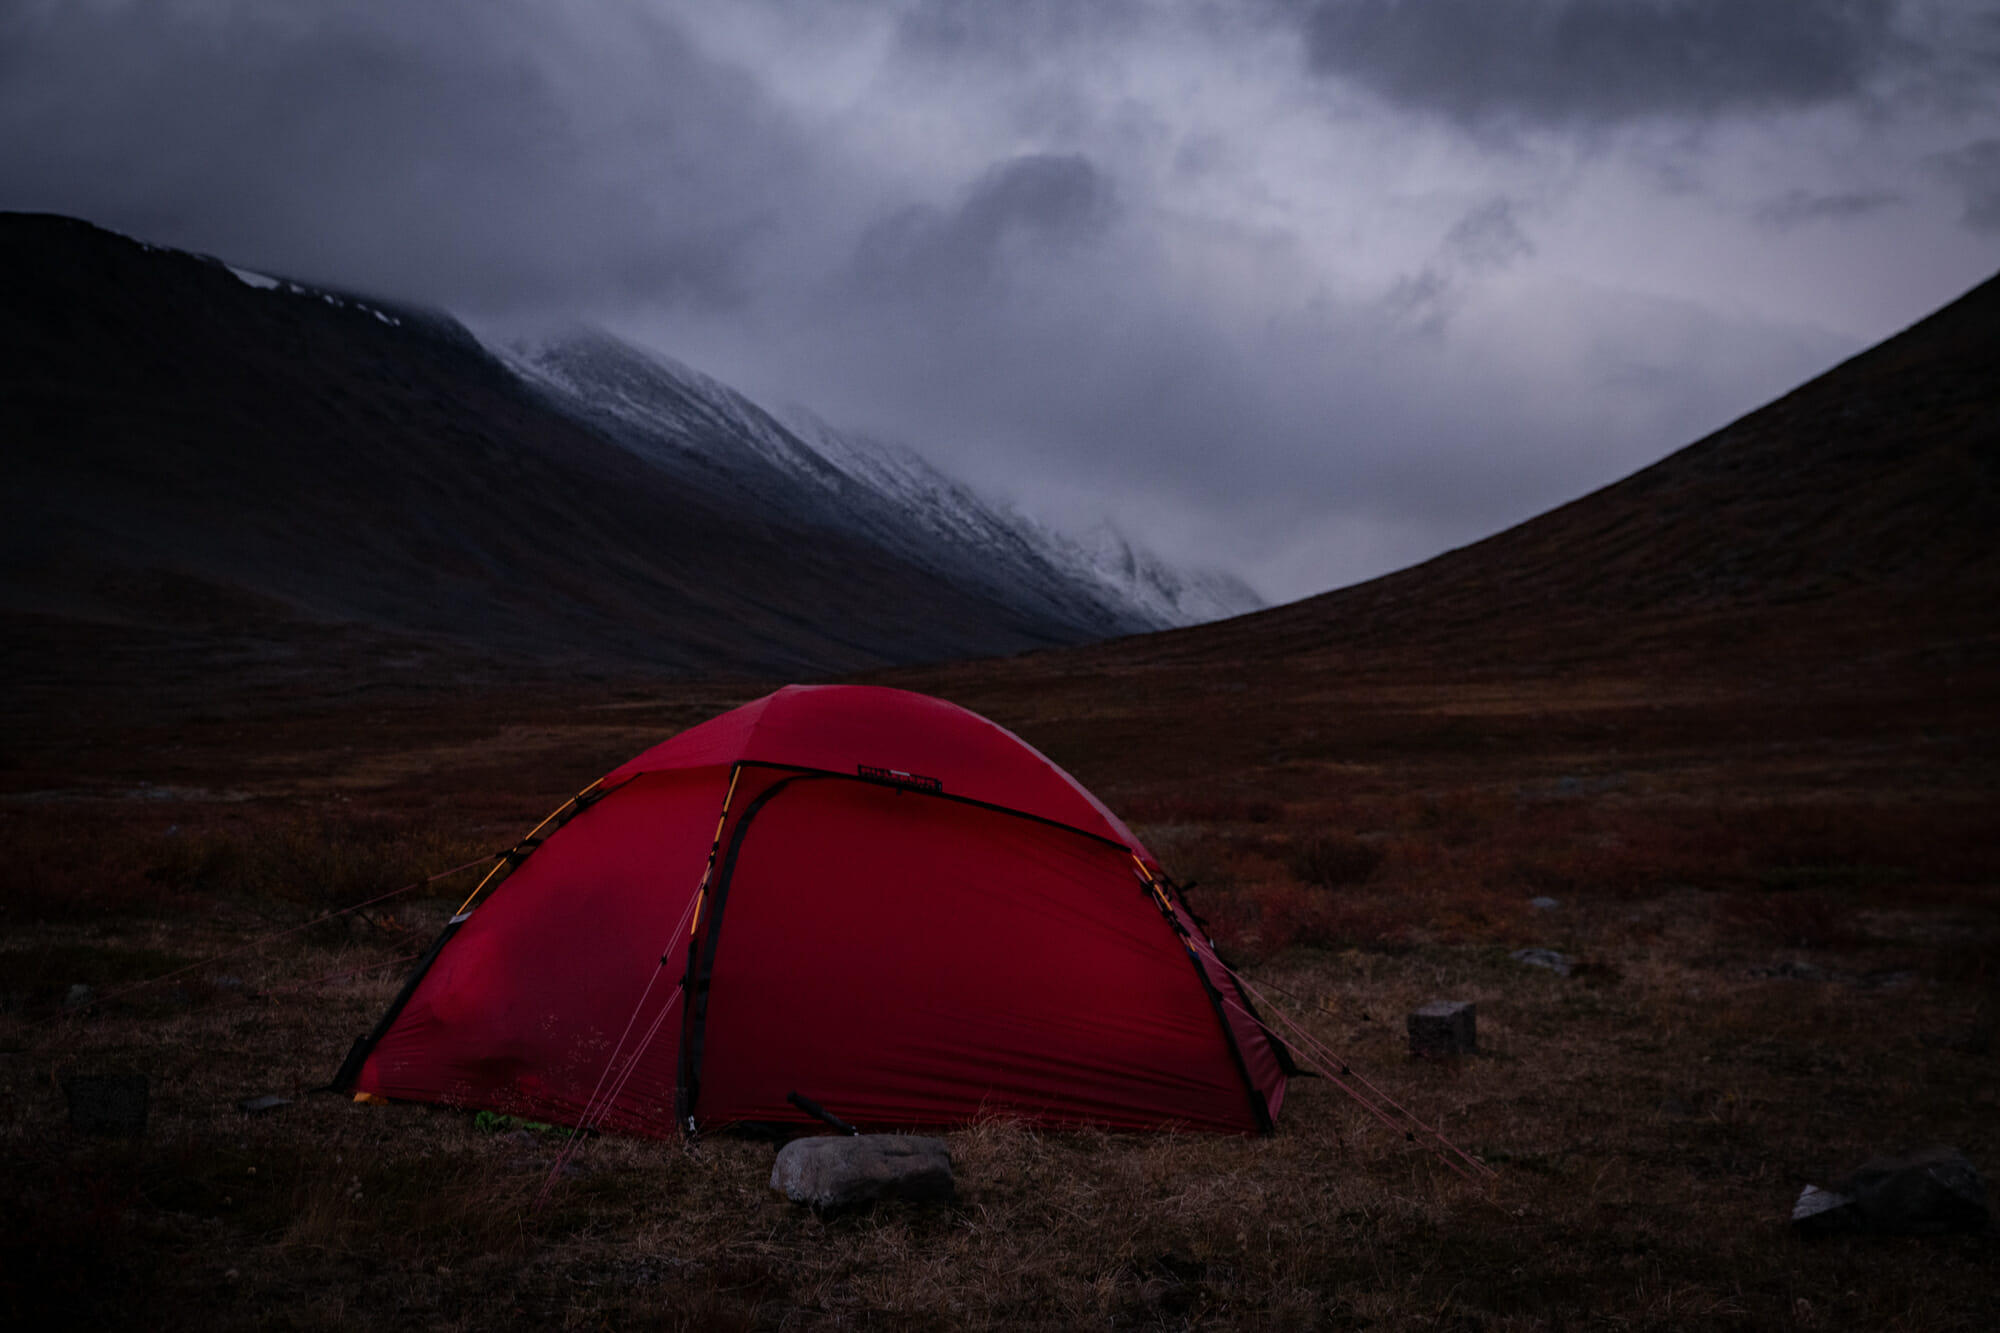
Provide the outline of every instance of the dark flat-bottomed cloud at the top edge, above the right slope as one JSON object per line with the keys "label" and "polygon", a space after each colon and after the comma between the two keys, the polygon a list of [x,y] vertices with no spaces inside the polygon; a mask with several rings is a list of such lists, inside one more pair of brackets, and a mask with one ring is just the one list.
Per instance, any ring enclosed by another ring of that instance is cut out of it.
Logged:
{"label": "dark flat-bottomed cloud at the top edge, above the right slope", "polygon": [[1892,0],[1324,0],[1322,74],[1466,126],[1810,106],[1898,50]]}

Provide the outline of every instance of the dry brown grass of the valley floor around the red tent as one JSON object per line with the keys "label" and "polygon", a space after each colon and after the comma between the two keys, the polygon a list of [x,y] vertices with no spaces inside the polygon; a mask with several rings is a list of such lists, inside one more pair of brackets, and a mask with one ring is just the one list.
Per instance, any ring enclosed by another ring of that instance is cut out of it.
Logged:
{"label": "dry brown grass of the valley floor around the red tent", "polygon": [[[1402,681],[1384,717],[1378,693],[1342,703],[1320,683],[1272,687],[1280,703],[1316,699],[1310,727],[1290,705],[1246,705],[1162,737],[1174,705],[1130,691],[954,679],[918,685],[1074,765],[1194,881],[1224,953],[1274,1003],[1500,1179],[1466,1185],[1328,1083],[1298,1081],[1268,1139],[1004,1119],[954,1131],[948,1207],[816,1217],[766,1187],[768,1143],[718,1137],[694,1151],[586,1141],[536,1211],[556,1139],[312,1093],[394,993],[400,967],[378,965],[422,947],[456,895],[412,895],[86,1013],[62,999],[502,845],[718,699],[544,699],[530,749],[560,757],[546,781],[482,767],[480,737],[524,755],[530,733],[478,697],[408,715],[416,741],[354,725],[380,703],[288,707],[194,759],[164,725],[134,733],[70,759],[72,795],[0,805],[22,849],[0,917],[0,1321],[1990,1325],[1992,1235],[1808,1243],[1784,1221],[1802,1183],[1880,1149],[1948,1141],[2000,1163],[2000,821],[1986,771],[1960,761],[1946,781],[1918,763],[1938,745],[1922,717],[1884,733],[1842,709],[1814,741],[1788,713],[1778,749],[1742,731],[1752,715],[1720,687],[1684,689],[1664,717],[1628,685],[1538,687],[1538,715],[1526,687],[1454,713],[1448,683]],[[1636,721],[1592,751],[1574,723],[1590,709]],[[1556,723],[1542,733],[1536,717]],[[1884,753],[1896,735],[1918,759]],[[332,737],[362,741],[340,759]],[[1176,771],[1176,747],[1206,767]],[[44,789],[26,753],[16,791]],[[106,795],[166,753],[176,783],[248,799]],[[322,767],[310,783],[306,753]],[[1508,951],[1524,945],[1582,967],[1522,967]],[[376,971],[342,977],[356,969]],[[1446,997],[1478,1003],[1480,1053],[1412,1061],[1404,1015]],[[66,1127],[60,1079],[102,1069],[150,1077],[142,1141]],[[258,1093],[296,1101],[236,1111]]]}

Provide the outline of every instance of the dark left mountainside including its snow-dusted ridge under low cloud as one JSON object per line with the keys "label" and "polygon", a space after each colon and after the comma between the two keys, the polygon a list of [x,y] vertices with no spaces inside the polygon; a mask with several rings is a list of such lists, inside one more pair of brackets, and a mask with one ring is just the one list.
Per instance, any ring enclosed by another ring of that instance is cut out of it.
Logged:
{"label": "dark left mountainside including its snow-dusted ridge under low cloud", "polygon": [[[586,406],[586,378],[618,392]],[[8,614],[700,675],[1162,622],[1046,552],[916,540],[952,518],[632,348],[524,378],[450,316],[70,218],[0,214],[0,408]]]}

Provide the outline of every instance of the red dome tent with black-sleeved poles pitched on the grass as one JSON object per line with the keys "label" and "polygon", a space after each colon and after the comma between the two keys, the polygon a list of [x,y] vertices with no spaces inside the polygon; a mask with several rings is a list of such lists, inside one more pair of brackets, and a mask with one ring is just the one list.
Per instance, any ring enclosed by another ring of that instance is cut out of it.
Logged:
{"label": "red dome tent with black-sleeved poles pitched on the grass", "polygon": [[956,705],[788,687],[558,817],[336,1087],[662,1137],[804,1121],[792,1091],[862,1127],[1248,1133],[1284,1099],[1152,855]]}

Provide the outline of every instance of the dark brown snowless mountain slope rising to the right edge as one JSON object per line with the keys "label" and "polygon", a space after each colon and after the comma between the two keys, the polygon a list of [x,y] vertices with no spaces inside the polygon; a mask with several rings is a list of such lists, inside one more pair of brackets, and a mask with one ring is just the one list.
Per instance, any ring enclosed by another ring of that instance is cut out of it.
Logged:
{"label": "dark brown snowless mountain slope rising to the right edge", "polygon": [[1992,640],[2000,278],[1668,458],[1424,564],[1148,640],[1156,660],[1560,662]]}

